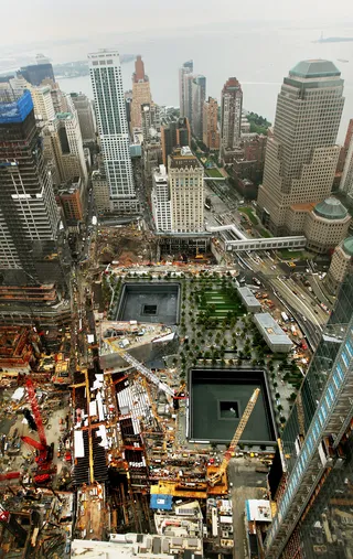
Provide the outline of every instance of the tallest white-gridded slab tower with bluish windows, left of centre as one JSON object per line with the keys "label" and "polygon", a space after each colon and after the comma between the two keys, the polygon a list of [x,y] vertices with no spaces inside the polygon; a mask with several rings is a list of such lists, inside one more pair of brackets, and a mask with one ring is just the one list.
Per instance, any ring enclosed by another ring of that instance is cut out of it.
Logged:
{"label": "tallest white-gridded slab tower with bluish windows, left of centre", "polygon": [[114,50],[88,54],[97,129],[104,157],[105,174],[115,209],[135,212],[132,165],[129,130],[119,53]]}

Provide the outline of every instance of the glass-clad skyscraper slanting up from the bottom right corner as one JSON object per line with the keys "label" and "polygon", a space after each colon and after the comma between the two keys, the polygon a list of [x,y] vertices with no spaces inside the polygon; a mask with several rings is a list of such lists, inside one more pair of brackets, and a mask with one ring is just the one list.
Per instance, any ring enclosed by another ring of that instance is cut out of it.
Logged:
{"label": "glass-clad skyscraper slanting up from the bottom right corner", "polygon": [[[350,255],[352,239],[347,247]],[[353,276],[303,378],[269,473],[266,559],[349,558],[353,480]]]}

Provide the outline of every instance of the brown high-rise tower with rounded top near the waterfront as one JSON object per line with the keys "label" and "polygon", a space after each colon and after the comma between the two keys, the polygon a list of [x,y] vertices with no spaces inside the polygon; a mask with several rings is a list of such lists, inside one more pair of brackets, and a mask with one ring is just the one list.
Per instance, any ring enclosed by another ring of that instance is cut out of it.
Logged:
{"label": "brown high-rise tower with rounded top near the waterfront", "polygon": [[220,159],[231,163],[240,142],[243,90],[236,77],[229,77],[221,95]]}

